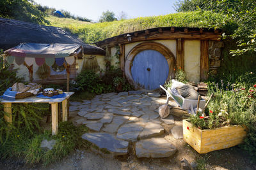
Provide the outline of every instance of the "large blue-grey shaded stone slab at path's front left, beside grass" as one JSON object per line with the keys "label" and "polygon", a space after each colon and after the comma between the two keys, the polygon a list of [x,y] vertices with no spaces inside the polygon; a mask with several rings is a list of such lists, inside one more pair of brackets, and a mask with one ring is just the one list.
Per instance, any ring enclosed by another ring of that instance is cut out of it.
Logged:
{"label": "large blue-grey shaded stone slab at path's front left, beside grass", "polygon": [[113,134],[108,133],[86,133],[82,136],[83,139],[90,141],[99,148],[106,148],[109,152],[115,155],[125,155],[128,152],[127,141],[115,139]]}

